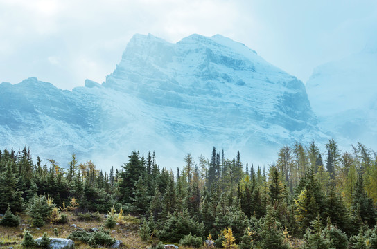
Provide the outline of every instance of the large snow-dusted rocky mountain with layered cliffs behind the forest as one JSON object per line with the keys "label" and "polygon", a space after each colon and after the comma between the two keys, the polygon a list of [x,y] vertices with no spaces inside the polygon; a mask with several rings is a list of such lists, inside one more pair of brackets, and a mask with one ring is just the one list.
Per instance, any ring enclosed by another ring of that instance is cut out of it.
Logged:
{"label": "large snow-dusted rocky mountain with layered cliffs behind the forest", "polygon": [[267,164],[283,145],[326,139],[301,81],[221,35],[176,44],[134,35],[106,82],[72,91],[36,78],[2,83],[0,136],[1,147],[27,144],[62,166],[72,153],[110,167],[151,150],[173,168],[213,146]]}

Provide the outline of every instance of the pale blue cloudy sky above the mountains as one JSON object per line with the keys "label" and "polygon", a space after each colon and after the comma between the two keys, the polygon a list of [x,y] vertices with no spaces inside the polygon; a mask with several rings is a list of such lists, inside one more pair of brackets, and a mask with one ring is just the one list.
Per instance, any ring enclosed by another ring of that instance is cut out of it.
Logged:
{"label": "pale blue cloudy sky above the mountains", "polygon": [[377,41],[377,1],[0,0],[0,82],[102,82],[134,33],[221,34],[306,82],[315,66]]}

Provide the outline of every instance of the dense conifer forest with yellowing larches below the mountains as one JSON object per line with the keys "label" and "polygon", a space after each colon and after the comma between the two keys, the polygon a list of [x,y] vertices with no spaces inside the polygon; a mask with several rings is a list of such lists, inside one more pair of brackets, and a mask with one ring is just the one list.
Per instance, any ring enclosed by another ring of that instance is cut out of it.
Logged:
{"label": "dense conifer forest with yellowing larches below the mountains", "polygon": [[[77,219],[107,214],[100,239],[83,230],[69,238],[110,246],[106,229],[128,214],[145,248],[377,248],[377,154],[360,143],[340,151],[333,139],[324,148],[296,142],[261,168],[213,147],[208,158],[186,154],[174,172],[150,151],[133,151],[121,167],[103,172],[75,154],[60,167],[53,159],[33,162],[27,146],[3,149],[0,225],[17,227],[23,214],[32,228],[67,223],[67,212]],[[27,242],[27,230],[23,236],[24,248],[37,246]]]}

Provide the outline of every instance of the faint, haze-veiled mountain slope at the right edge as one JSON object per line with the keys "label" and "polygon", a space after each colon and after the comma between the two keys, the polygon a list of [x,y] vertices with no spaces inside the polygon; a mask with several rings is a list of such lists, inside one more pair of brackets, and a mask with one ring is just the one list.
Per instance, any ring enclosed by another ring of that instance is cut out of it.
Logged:
{"label": "faint, haze-veiled mountain slope at the right edge", "polygon": [[315,68],[306,83],[319,127],[341,145],[377,146],[377,46]]}

